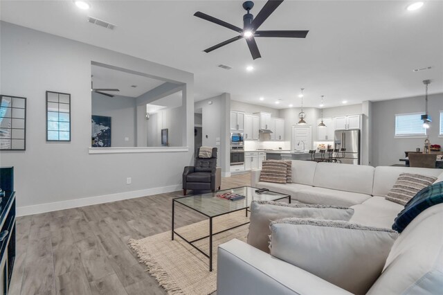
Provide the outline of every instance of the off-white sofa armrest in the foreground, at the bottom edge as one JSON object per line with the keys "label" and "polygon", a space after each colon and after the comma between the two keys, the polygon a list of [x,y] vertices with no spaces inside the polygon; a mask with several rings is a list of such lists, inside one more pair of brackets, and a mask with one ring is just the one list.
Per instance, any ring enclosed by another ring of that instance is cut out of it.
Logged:
{"label": "off-white sofa armrest in the foreground, at the bottom edge", "polygon": [[217,295],[351,294],[236,239],[219,245],[217,255]]}

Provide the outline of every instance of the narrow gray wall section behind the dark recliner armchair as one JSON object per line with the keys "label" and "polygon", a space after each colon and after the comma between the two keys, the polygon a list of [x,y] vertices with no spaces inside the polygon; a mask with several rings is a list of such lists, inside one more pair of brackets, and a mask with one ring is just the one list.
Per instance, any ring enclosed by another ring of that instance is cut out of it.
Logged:
{"label": "narrow gray wall section behind the dark recliner armchair", "polygon": [[[209,105],[208,102],[212,104]],[[225,176],[230,173],[230,102],[229,93],[195,102],[195,109],[202,110],[202,144],[218,148],[217,165]]]}

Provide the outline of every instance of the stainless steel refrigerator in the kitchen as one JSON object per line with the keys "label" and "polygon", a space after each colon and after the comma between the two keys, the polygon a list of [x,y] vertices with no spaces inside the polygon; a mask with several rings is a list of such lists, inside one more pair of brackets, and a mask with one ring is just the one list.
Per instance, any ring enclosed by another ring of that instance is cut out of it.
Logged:
{"label": "stainless steel refrigerator in the kitchen", "polygon": [[[336,130],[334,148],[346,149],[345,157],[341,159],[341,163],[360,165],[360,129]],[[340,157],[342,157],[341,154]]]}

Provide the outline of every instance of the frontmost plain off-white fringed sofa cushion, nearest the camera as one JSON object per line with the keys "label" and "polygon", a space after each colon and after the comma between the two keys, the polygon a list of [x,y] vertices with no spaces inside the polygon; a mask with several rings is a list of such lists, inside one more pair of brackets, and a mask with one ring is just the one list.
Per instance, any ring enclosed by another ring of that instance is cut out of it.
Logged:
{"label": "frontmost plain off-white fringed sofa cushion, nearest the camera", "polygon": [[397,235],[350,222],[285,218],[271,222],[271,255],[353,294],[365,294]]}

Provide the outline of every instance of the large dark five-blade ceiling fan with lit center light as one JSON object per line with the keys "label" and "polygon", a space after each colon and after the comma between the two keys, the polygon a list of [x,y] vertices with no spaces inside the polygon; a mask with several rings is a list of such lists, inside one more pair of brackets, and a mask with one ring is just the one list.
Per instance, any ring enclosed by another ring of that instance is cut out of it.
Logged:
{"label": "large dark five-blade ceiling fan with lit center light", "polygon": [[214,24],[224,26],[225,28],[229,28],[230,30],[235,30],[237,33],[240,33],[240,35],[205,49],[204,51],[206,53],[210,53],[221,46],[225,46],[226,44],[230,44],[234,41],[245,38],[249,51],[251,51],[252,58],[255,60],[256,58],[262,57],[262,55],[260,55],[260,51],[258,51],[257,43],[255,42],[254,37],[305,38],[309,30],[257,30],[282,2],[283,0],[267,1],[255,18],[251,13],[249,13],[249,10],[251,10],[254,6],[253,1],[244,2],[243,8],[247,11],[247,13],[243,16],[243,28],[228,24],[226,21],[221,21],[220,19],[206,15],[203,12],[195,12],[194,15],[196,17],[206,19]]}

